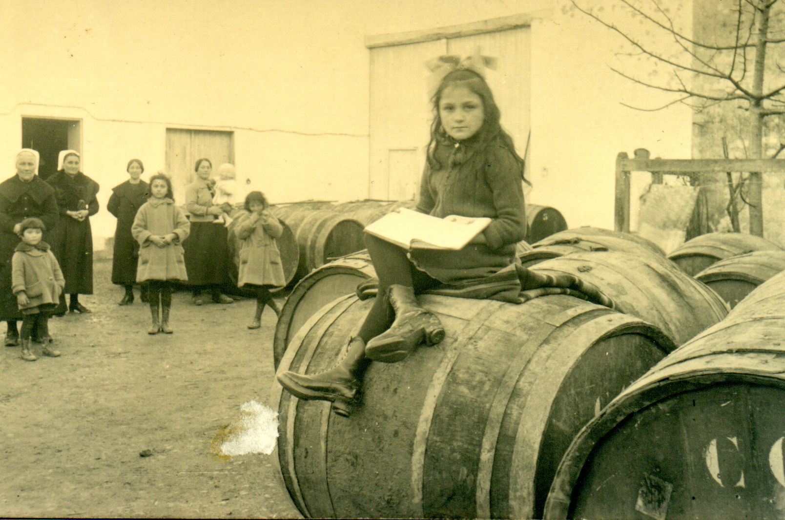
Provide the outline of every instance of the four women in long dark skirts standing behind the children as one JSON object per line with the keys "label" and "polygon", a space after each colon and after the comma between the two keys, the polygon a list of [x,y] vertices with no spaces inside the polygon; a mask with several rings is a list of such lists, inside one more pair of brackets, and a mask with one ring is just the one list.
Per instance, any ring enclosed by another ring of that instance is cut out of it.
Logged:
{"label": "four women in long dark skirts standing behind the children", "polygon": [[[5,345],[18,344],[16,321],[22,315],[11,291],[11,258],[20,238],[15,226],[25,218],[40,218],[46,226],[45,240],[60,263],[65,288],[53,315],[89,313],[79,302],[79,295],[93,294],[93,236],[89,218],[97,213],[99,185],[81,171],[81,156],[75,150],[60,152],[58,170],[49,178],[38,176],[38,152],[24,148],[16,156],[16,174],[0,184],[0,320],[8,324]],[[115,186],[107,209],[117,218],[111,281],[122,285],[125,293],[120,305],[133,302],[133,285],[137,284],[139,244],[133,239],[131,226],[139,208],[148,200],[150,187],[141,180],[144,164],[131,159],[127,164],[128,180]],[[185,207],[192,221],[191,240],[183,244],[193,302],[203,304],[203,293],[214,302],[232,303],[221,293],[228,282],[227,229],[221,215],[225,209],[212,203],[214,182],[210,179],[212,163],[199,159],[197,179],[188,185]],[[147,301],[142,284],[141,300]],[[69,295],[66,305],[65,294]],[[35,339],[35,338],[34,338]]]}

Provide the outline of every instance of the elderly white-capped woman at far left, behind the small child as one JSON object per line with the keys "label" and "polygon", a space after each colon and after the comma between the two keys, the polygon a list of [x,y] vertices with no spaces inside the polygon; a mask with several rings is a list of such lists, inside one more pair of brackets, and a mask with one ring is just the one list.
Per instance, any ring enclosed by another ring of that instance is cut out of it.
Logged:
{"label": "elderly white-capped woman at far left, behind the small child", "polygon": [[28,217],[40,218],[46,229],[52,229],[57,200],[52,187],[38,177],[38,152],[24,148],[16,155],[16,175],[0,184],[0,320],[8,322],[5,346],[19,343],[16,321],[22,313],[11,291],[11,258],[20,242],[20,222]]}

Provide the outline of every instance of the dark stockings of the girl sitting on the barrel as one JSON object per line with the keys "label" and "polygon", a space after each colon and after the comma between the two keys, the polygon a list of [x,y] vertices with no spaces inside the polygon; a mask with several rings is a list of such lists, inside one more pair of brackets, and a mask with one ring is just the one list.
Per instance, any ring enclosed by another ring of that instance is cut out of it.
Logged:
{"label": "dark stockings of the girl sitting on the barrel", "polygon": [[386,240],[372,235],[366,235],[365,246],[368,248],[376,276],[379,278],[378,295],[357,333],[367,343],[386,331],[395,320],[395,313],[387,297],[387,288],[390,285],[399,284],[413,287],[414,294],[419,294],[436,287],[440,282],[415,268],[406,255],[407,251],[395,244],[390,244]]}

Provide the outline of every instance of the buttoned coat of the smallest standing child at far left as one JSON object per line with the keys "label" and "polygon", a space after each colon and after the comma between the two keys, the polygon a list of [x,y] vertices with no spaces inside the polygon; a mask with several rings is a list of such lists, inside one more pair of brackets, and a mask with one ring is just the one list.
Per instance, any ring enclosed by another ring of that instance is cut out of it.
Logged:
{"label": "buttoned coat of the smallest standing child at far left", "polygon": [[18,295],[24,291],[29,302],[21,310],[53,303],[57,305],[65,287],[63,271],[54,258],[49,244],[42,242],[46,251],[20,242],[11,258],[11,291]]}

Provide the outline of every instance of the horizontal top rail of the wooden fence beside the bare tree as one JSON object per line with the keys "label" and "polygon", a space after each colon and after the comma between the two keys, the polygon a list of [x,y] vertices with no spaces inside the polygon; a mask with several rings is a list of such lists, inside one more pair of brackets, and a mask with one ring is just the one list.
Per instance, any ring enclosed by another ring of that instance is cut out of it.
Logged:
{"label": "horizontal top rail of the wooden fence beside the bare tree", "polygon": [[785,172],[785,159],[629,159],[619,154],[617,168],[623,171],[655,171],[663,174],[703,172]]}

